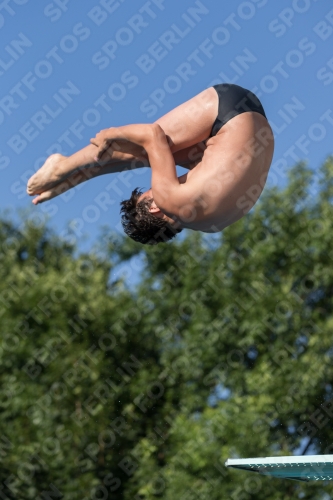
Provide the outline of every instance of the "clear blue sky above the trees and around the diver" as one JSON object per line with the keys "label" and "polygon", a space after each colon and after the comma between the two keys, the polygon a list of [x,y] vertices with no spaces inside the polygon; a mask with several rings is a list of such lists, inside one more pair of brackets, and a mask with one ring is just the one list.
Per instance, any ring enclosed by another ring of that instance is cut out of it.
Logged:
{"label": "clear blue sky above the trees and around the diver", "polygon": [[[7,0],[0,30],[3,208],[31,205],[26,180],[54,148],[154,121],[218,82],[260,97],[276,135],[271,184],[297,158],[316,169],[332,153],[330,1]],[[147,169],[92,180],[31,217],[47,213],[64,237],[75,219],[93,241],[101,225],[121,231],[119,201],[136,186],[150,186]]]}

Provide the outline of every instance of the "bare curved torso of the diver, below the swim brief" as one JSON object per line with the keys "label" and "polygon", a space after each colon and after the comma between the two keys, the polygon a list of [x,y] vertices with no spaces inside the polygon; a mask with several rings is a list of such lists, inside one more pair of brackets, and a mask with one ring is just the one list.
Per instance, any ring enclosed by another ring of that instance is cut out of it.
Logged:
{"label": "bare curved torso of the diver, below the swim brief", "polygon": [[182,226],[213,233],[243,217],[258,200],[271,165],[274,138],[265,117],[243,113],[207,139],[201,158],[179,178],[195,190]]}

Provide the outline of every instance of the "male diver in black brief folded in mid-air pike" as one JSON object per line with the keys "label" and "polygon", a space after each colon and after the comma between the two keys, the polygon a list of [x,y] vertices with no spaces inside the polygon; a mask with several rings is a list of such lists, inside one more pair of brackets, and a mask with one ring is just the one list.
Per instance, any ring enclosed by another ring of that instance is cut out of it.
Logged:
{"label": "male diver in black brief folded in mid-air pike", "polygon": [[[274,137],[258,98],[238,85],[210,87],[153,124],[102,130],[90,145],[51,155],[28,182],[37,205],[102,174],[150,166],[151,189],[121,203],[126,234],[156,244],[182,229],[214,233],[258,200]],[[189,169],[177,177],[176,164]]]}

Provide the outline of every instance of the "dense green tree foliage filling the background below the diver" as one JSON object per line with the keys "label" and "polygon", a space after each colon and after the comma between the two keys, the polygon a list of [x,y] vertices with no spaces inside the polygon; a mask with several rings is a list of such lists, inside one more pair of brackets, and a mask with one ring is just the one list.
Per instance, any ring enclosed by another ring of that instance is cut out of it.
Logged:
{"label": "dense green tree foliage filling the background below the diver", "polygon": [[0,498],[331,498],[224,462],[333,453],[332,179],[297,165],[222,235],[156,248],[3,218]]}

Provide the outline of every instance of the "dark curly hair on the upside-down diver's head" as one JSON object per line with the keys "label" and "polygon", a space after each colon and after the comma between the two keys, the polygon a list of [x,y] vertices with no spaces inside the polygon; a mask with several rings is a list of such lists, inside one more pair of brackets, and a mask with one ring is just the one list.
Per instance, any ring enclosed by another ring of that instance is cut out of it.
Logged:
{"label": "dark curly hair on the upside-down diver's head", "polygon": [[165,243],[180,233],[181,229],[174,228],[167,221],[149,212],[152,198],[138,203],[141,194],[142,191],[136,188],[129,200],[120,203],[121,223],[125,233],[134,241],[146,245]]}

